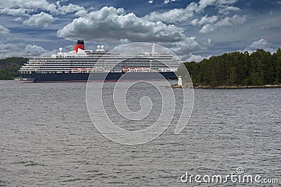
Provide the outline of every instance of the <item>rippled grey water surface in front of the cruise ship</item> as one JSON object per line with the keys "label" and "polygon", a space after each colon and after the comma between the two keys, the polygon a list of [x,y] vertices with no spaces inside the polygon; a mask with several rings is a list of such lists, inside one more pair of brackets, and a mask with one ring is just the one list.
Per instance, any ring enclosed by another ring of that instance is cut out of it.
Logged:
{"label": "rippled grey water surface in front of the cruise ship", "polygon": [[281,183],[281,89],[197,89],[184,131],[174,135],[171,125],[140,146],[96,130],[85,90],[84,83],[0,82],[0,186],[195,186],[181,176],[237,167]]}

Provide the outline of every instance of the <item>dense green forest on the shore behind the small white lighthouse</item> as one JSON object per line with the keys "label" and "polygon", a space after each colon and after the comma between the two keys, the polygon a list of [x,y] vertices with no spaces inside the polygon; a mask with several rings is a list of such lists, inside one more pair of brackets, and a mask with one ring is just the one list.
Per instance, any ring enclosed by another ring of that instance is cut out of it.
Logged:
{"label": "dense green forest on the shore behind the small white lighthouse", "polygon": [[281,50],[273,54],[224,53],[200,63],[184,63],[194,86],[261,86],[281,84]]}

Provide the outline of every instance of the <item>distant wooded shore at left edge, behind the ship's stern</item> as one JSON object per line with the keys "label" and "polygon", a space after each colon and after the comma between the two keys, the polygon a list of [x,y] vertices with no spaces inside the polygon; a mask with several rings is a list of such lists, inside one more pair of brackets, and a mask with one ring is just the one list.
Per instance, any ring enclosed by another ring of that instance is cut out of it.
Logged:
{"label": "distant wooded shore at left edge, behind the ship's stern", "polygon": [[15,79],[20,77],[18,70],[27,62],[27,58],[6,58],[0,59],[0,79]]}

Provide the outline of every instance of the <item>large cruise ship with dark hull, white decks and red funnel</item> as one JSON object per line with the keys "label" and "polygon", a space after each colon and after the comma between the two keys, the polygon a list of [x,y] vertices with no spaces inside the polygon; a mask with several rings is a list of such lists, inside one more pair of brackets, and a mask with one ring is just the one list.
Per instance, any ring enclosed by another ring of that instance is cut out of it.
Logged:
{"label": "large cruise ship with dark hull, white decks and red funnel", "polygon": [[84,50],[78,40],[73,51],[30,59],[20,68],[20,82],[87,82],[145,79],[176,79],[179,59],[161,54],[152,46],[150,53],[122,56],[109,53],[104,46]]}

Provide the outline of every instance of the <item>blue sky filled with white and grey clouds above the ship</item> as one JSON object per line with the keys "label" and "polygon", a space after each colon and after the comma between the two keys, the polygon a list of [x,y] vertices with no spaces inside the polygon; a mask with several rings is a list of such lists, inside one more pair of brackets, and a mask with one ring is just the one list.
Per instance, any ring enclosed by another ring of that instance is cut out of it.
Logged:
{"label": "blue sky filled with white and grey clouds above the ship", "polygon": [[162,45],[184,61],[281,47],[281,0],[1,0],[0,58],[49,56],[131,42]]}

